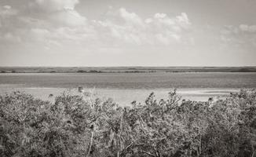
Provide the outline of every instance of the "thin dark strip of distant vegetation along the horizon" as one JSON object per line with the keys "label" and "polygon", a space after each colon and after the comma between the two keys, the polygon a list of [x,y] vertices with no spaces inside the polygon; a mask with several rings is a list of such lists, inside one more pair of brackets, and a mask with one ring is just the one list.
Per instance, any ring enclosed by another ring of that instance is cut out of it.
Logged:
{"label": "thin dark strip of distant vegetation along the horizon", "polygon": [[100,68],[4,68],[6,73],[152,73],[152,72],[256,72],[256,67],[100,67]]}

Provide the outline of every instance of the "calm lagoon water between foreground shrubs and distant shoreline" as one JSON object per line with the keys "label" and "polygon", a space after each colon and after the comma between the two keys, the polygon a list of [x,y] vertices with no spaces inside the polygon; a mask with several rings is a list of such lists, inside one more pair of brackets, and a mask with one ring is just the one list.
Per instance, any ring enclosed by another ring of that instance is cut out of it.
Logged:
{"label": "calm lagoon water between foreground shrubs and distant shoreline", "polygon": [[0,94],[21,90],[47,100],[49,93],[77,93],[78,86],[122,105],[144,102],[151,92],[157,99],[166,98],[174,88],[184,99],[216,100],[239,89],[256,88],[256,73],[0,74]]}

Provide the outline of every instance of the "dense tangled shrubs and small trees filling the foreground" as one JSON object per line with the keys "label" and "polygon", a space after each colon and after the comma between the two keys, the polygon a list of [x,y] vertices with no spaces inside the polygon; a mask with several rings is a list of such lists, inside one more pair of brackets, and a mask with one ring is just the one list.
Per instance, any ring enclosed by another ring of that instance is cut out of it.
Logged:
{"label": "dense tangled shrubs and small trees filling the foreground", "polygon": [[167,100],[121,108],[84,93],[54,102],[0,97],[0,156],[256,156],[256,91],[225,100]]}

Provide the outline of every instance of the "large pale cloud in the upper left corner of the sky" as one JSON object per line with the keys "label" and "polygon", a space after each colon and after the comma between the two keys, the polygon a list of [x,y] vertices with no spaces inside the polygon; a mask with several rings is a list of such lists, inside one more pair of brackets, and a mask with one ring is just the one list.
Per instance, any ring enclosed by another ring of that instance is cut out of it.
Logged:
{"label": "large pale cloud in the upper left corner of the sky", "polygon": [[10,5],[1,6],[0,3],[0,40],[6,43],[12,38],[13,41],[18,41],[14,39],[19,38],[24,45],[48,45],[49,41],[55,40],[57,43],[67,37],[66,34],[70,31],[62,31],[61,35],[59,30],[62,27],[75,30],[82,27],[80,30],[86,33],[83,28],[87,27],[86,17],[75,10],[77,4],[78,0],[33,0],[25,4],[25,8],[16,10]]}

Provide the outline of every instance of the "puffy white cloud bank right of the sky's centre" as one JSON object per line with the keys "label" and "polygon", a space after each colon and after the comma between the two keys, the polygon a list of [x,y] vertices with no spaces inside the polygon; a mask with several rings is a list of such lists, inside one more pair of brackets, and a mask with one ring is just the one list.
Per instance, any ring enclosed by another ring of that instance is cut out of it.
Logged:
{"label": "puffy white cloud bank right of the sky's centre", "polygon": [[[136,13],[126,9],[110,10],[106,20],[96,21],[98,30],[104,38],[112,38],[115,44],[125,42],[139,46],[170,45],[186,40],[182,38],[185,31],[189,31],[191,23],[185,13],[170,18],[165,13],[155,13],[145,20]],[[122,43],[120,43],[122,44]]]}

